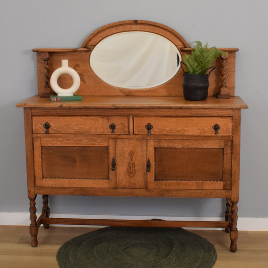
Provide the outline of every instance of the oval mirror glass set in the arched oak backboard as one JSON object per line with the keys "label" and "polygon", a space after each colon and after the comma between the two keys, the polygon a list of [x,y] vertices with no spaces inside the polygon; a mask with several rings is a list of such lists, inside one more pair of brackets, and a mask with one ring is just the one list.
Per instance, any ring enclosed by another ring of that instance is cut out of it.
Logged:
{"label": "oval mirror glass set in the arched oak backboard", "polygon": [[103,81],[123,88],[163,84],[180,69],[181,54],[168,39],[149,32],[122,32],[103,39],[90,66]]}

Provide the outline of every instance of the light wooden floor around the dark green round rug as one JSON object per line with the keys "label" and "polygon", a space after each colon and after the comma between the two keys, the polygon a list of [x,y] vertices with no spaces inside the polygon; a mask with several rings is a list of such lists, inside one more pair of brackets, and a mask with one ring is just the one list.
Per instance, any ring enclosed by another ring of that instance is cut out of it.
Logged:
{"label": "light wooden floor around the dark green round rug", "polygon": [[[38,247],[31,247],[27,226],[0,226],[0,267],[58,267],[56,253],[69,239],[96,230],[86,227],[40,227]],[[214,244],[218,259],[215,268],[267,268],[268,232],[240,231],[238,250],[229,251],[229,234],[224,231],[191,230]],[[119,267],[120,268],[120,267]]]}

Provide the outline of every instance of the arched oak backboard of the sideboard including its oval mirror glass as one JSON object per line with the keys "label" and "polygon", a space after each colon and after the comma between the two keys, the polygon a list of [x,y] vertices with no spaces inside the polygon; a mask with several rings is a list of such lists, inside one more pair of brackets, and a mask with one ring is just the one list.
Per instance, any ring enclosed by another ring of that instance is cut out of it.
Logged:
{"label": "arched oak backboard of the sideboard including its oval mirror glass", "polygon": [[[191,53],[186,40],[173,29],[149,21],[121,21],[105,25],[89,35],[80,48],[34,49],[38,64],[38,94],[49,96],[51,73],[68,59],[69,67],[80,76],[81,96],[183,96],[183,70],[180,62]],[[208,96],[216,96],[221,85],[234,95],[234,63],[237,49],[226,60],[218,58],[210,75]],[[72,79],[61,75],[62,88]]]}

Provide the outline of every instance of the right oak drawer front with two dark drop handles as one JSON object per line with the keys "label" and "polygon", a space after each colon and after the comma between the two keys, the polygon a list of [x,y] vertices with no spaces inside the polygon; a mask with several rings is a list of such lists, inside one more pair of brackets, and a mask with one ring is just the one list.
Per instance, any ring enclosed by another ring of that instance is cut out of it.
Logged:
{"label": "right oak drawer front with two dark drop handles", "polygon": [[232,118],[134,117],[134,134],[232,135]]}

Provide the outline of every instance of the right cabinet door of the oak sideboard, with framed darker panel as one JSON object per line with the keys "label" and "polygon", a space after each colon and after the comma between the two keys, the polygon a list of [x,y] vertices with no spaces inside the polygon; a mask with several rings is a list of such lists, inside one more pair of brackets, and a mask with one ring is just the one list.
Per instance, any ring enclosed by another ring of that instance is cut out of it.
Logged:
{"label": "right cabinet door of the oak sideboard, with framed darker panel", "polygon": [[150,140],[148,173],[152,189],[231,187],[231,139]]}

